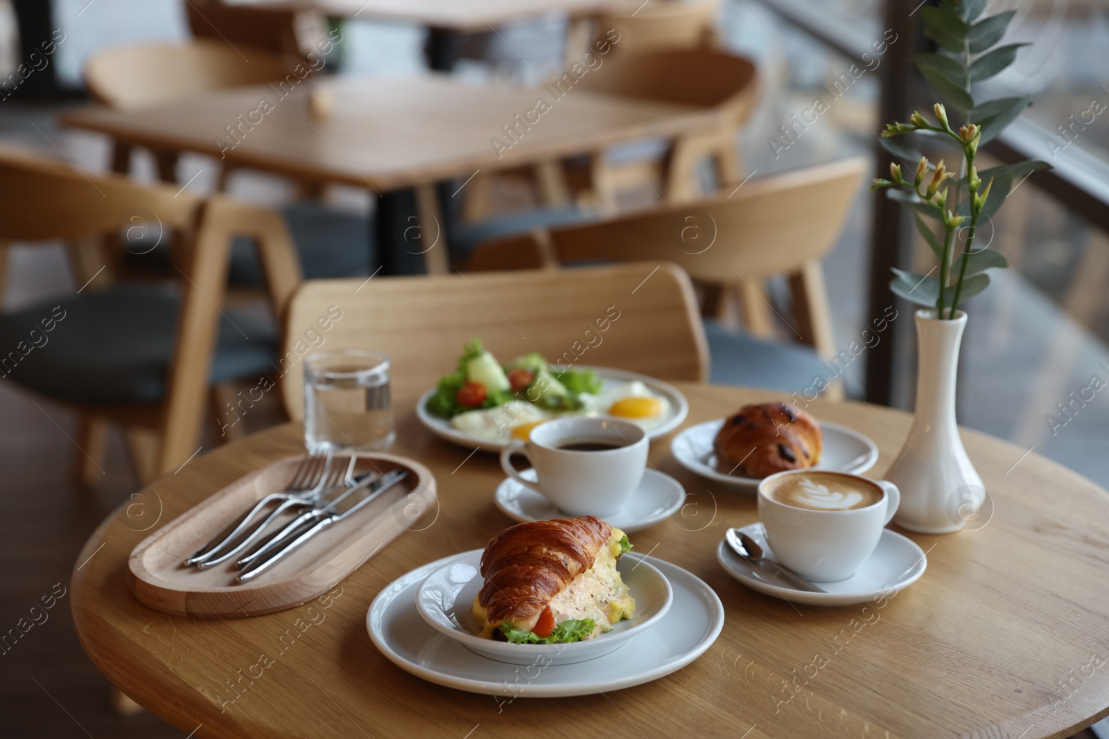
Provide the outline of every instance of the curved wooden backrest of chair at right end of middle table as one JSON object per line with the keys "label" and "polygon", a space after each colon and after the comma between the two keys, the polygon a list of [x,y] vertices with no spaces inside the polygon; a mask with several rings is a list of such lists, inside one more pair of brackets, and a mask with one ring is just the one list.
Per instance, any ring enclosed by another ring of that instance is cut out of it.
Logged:
{"label": "curved wooden backrest of chair at right end of middle table", "polygon": [[607,59],[578,83],[584,90],[663,103],[720,107],[735,124],[757,95],[754,62],[712,49],[659,49]]}

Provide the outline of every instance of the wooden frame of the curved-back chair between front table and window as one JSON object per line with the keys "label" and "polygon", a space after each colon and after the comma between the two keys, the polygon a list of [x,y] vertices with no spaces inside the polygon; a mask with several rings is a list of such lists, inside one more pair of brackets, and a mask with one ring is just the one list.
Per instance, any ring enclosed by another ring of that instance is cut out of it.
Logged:
{"label": "wooden frame of the curved-back chair between front table and window", "polygon": [[489,242],[474,250],[468,268],[673,261],[694,279],[735,289],[746,329],[760,339],[775,338],[766,278],[785,275],[793,335],[827,360],[836,347],[821,258],[835,246],[868,170],[866,160],[845,160],[751,181],[731,197]]}

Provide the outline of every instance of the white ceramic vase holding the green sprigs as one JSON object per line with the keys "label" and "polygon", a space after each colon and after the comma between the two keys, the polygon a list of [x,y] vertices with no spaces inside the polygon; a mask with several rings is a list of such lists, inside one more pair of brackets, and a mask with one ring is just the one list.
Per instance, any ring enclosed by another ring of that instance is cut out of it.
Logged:
{"label": "white ceramic vase holding the green sprigs", "polygon": [[919,371],[916,414],[901,454],[885,479],[901,490],[894,523],[922,534],[949,534],[973,520],[986,499],[955,422],[955,376],[967,315],[938,320],[917,310]]}

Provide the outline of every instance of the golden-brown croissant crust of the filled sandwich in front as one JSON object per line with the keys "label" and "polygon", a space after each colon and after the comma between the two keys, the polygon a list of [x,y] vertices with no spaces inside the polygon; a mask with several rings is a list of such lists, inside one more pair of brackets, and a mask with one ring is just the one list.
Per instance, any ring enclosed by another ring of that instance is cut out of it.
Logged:
{"label": "golden-brown croissant crust of the filled sandwich in front", "polygon": [[580,573],[593,566],[612,526],[593,516],[509,526],[481,555],[478,603],[490,623],[530,620]]}

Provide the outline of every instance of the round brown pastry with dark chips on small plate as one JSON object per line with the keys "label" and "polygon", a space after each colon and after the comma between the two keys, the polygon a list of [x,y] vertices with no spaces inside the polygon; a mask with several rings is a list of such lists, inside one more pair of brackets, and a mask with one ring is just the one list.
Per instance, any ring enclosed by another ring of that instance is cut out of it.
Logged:
{"label": "round brown pastry with dark chips on small plate", "polygon": [[790,403],[757,403],[724,420],[713,449],[721,472],[766,478],[813,466],[822,443],[820,424],[805,411]]}

